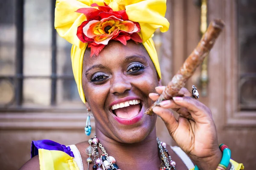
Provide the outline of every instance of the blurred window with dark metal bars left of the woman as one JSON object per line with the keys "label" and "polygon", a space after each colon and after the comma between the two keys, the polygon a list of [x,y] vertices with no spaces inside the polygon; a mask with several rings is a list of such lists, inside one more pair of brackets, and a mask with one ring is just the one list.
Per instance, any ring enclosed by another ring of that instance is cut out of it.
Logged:
{"label": "blurred window with dark metal bars left of the woman", "polygon": [[55,0],[0,0],[0,111],[84,110]]}

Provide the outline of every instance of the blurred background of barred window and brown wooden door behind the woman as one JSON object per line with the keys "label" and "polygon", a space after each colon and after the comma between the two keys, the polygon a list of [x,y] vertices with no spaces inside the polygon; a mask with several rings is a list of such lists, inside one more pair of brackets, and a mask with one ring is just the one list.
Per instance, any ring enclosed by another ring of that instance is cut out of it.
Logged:
{"label": "blurred background of barred window and brown wooden door behind the woman", "polygon": [[[87,140],[87,111],[70,61],[71,45],[54,29],[55,0],[0,0],[0,169],[17,170],[32,140]],[[215,120],[218,141],[247,170],[256,167],[256,1],[167,0],[168,32],[154,36],[166,85],[195,48],[206,26],[226,27],[189,80]],[[92,120],[92,126],[94,126]],[[93,129],[95,129],[93,127]],[[93,134],[93,132],[92,132]],[[157,136],[175,145],[163,122]]]}

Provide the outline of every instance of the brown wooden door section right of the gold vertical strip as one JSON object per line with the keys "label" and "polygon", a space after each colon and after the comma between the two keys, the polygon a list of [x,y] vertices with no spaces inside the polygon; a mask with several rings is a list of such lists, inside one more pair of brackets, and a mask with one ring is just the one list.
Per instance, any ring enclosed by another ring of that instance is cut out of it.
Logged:
{"label": "brown wooden door section right of the gold vertical strip", "polygon": [[217,125],[218,141],[230,147],[233,159],[253,170],[256,169],[256,57],[253,53],[256,3],[209,0],[208,14],[209,20],[221,18],[226,23],[208,63],[208,106]]}

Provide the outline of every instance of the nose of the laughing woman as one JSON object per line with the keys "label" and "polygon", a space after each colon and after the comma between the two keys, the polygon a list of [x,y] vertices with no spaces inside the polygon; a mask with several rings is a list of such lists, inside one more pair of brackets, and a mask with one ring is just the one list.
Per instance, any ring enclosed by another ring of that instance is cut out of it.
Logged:
{"label": "nose of the laughing woman", "polygon": [[125,75],[120,74],[118,76],[113,76],[111,79],[111,94],[123,94],[125,91],[129,91],[132,88],[131,82],[129,82]]}

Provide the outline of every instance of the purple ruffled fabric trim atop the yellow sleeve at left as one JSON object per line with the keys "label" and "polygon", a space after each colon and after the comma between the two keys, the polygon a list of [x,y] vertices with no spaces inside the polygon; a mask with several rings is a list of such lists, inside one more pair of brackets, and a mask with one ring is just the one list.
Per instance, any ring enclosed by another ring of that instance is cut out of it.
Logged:
{"label": "purple ruffled fabric trim atop the yellow sleeve at left", "polygon": [[46,149],[46,150],[60,150],[67,153],[71,157],[75,157],[73,152],[70,150],[70,147],[66,147],[64,144],[59,144],[57,142],[51,140],[39,140],[32,141],[31,144],[31,158],[38,155],[38,149]]}

